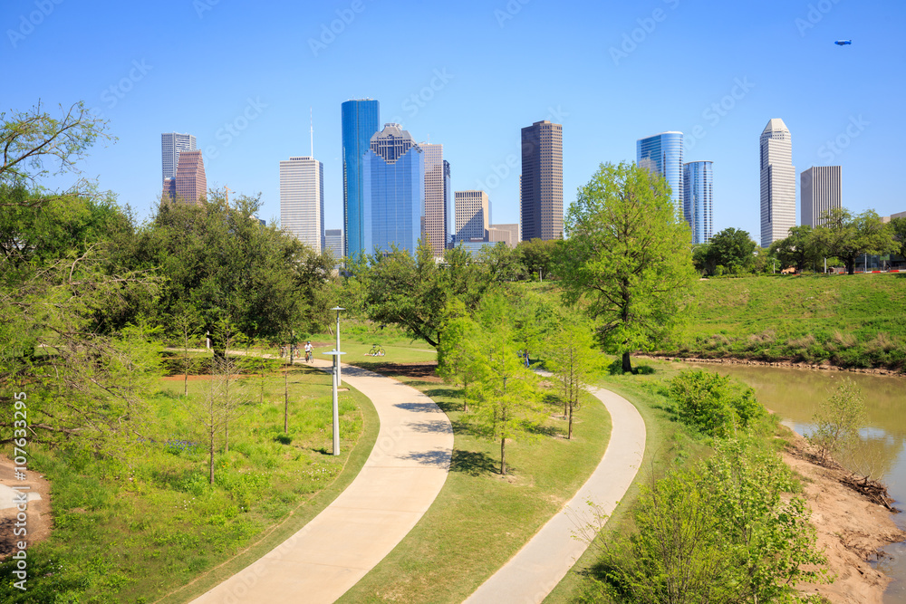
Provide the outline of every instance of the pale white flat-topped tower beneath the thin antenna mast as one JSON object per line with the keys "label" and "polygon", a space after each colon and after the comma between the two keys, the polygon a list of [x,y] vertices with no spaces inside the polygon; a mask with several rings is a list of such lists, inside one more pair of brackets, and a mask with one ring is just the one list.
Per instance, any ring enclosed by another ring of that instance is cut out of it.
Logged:
{"label": "pale white flat-topped tower beneath the thin antenna mast", "polygon": [[324,247],[324,165],[313,157],[280,162],[280,226],[321,254]]}

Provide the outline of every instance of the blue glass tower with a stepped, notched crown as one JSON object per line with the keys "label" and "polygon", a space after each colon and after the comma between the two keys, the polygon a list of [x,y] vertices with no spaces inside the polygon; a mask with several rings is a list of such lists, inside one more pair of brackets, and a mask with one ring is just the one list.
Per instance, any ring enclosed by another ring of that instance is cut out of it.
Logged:
{"label": "blue glass tower with a stepped, notched crown", "polygon": [[415,253],[425,207],[425,154],[408,130],[389,123],[371,137],[364,159],[362,249],[387,253],[396,245]]}

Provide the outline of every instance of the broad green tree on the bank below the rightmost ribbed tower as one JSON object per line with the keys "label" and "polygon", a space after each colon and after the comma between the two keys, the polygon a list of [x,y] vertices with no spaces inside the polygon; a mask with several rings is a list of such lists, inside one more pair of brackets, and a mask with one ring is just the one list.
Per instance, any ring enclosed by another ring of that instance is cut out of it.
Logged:
{"label": "broad green tree on the bank below the rightmost ribbed tower", "polygon": [[855,273],[855,261],[862,254],[886,254],[895,249],[891,230],[874,210],[853,214],[834,207],[822,215],[814,229],[815,241],[825,255],[836,256],[846,264],[846,273]]}

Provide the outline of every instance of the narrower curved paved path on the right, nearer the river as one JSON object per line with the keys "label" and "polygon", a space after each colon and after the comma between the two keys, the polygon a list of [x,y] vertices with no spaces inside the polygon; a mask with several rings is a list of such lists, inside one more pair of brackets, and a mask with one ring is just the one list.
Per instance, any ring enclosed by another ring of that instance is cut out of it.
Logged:
{"label": "narrower curved paved path on the right, nearer the river", "polygon": [[466,604],[535,604],[547,597],[573,568],[588,544],[573,538],[578,527],[594,523],[586,504],[611,514],[635,479],[645,452],[645,422],[625,398],[589,388],[611,414],[611,440],[601,463],[582,488],[516,555],[482,583]]}

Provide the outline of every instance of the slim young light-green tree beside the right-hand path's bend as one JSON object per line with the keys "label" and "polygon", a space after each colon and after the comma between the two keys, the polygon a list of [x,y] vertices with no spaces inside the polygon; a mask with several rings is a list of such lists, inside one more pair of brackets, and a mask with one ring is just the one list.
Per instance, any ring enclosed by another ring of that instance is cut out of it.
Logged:
{"label": "slim young light-green tree beside the right-hand path's bend", "polygon": [[547,342],[545,367],[564,399],[564,417],[568,421],[566,438],[573,438],[573,411],[579,408],[579,395],[588,388],[602,369],[601,354],[593,349],[592,331],[577,322],[561,324]]}

